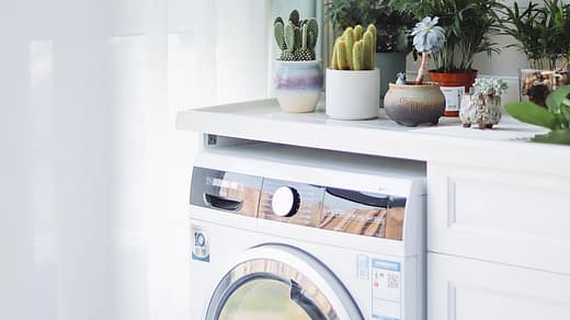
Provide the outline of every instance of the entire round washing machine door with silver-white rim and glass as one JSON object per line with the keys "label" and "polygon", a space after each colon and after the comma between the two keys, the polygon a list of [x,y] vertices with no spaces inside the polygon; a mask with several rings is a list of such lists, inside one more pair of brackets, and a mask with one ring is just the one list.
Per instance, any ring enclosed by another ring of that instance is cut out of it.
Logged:
{"label": "entire round washing machine door with silver-white rim and glass", "polygon": [[207,320],[364,319],[342,283],[310,254],[283,244],[250,249],[221,278]]}

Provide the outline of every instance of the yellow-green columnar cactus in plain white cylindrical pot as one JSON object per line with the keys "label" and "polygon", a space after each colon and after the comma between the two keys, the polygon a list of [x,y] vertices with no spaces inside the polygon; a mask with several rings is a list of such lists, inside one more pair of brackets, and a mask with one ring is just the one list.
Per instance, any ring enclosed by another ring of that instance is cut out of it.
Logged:
{"label": "yellow-green columnar cactus in plain white cylindrical pot", "polygon": [[327,115],[335,119],[378,116],[380,72],[375,68],[376,27],[346,27],[327,69]]}

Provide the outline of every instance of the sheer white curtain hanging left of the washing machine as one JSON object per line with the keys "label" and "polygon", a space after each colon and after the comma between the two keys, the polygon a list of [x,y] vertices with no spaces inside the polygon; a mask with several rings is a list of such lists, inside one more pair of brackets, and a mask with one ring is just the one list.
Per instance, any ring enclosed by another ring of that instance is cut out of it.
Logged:
{"label": "sheer white curtain hanging left of the washing machine", "polygon": [[2,4],[0,319],[190,319],[174,116],[266,95],[267,5]]}

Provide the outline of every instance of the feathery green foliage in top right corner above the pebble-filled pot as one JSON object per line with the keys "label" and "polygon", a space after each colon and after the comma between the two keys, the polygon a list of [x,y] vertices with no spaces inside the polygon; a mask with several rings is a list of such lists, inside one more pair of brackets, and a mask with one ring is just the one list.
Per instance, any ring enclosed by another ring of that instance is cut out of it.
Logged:
{"label": "feathery green foliage in top right corner above the pebble-filled pot", "polygon": [[518,3],[500,3],[498,18],[501,33],[512,36],[531,67],[555,70],[568,69],[570,62],[570,4],[562,0],[544,0],[544,5],[529,2],[524,10]]}

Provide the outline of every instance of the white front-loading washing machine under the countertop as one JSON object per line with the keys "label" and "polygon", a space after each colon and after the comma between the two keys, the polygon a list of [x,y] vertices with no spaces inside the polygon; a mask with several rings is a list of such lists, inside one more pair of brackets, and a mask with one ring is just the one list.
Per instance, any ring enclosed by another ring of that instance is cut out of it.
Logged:
{"label": "white front-loading washing machine under the countertop", "polygon": [[192,319],[425,319],[425,167],[290,146],[203,150]]}

